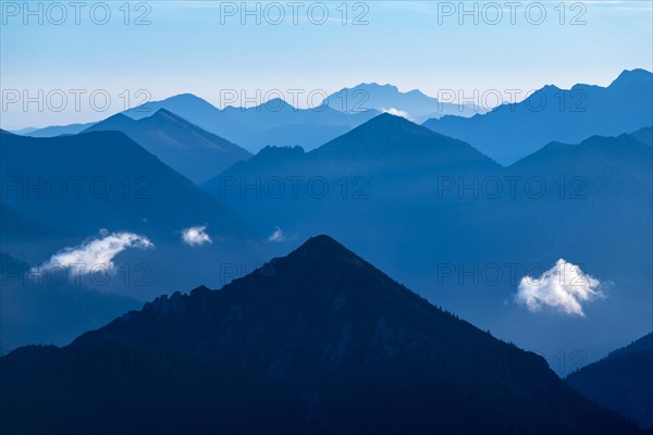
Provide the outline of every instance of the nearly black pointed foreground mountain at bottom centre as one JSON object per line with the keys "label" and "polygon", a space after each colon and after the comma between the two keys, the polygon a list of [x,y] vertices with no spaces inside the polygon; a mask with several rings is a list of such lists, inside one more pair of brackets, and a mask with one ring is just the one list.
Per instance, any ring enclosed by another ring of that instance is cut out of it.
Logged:
{"label": "nearly black pointed foreground mountain at bottom centre", "polygon": [[1,362],[12,434],[636,431],[328,236]]}

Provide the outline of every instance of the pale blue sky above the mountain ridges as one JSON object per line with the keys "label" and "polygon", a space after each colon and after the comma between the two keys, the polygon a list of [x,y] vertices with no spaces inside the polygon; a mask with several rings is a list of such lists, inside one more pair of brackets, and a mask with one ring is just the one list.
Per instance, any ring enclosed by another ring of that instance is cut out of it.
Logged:
{"label": "pale blue sky above the mountain ridges", "polygon": [[[153,100],[193,92],[221,105],[221,89],[245,89],[250,96],[256,89],[261,95],[271,89],[331,92],[377,82],[438,97],[441,89],[469,95],[472,89],[528,91],[545,84],[607,85],[625,69],[653,69],[650,1],[565,2],[562,8],[560,1],[517,2],[515,24],[505,2],[498,1],[504,7],[496,25],[489,23],[496,15],[488,2],[466,2],[467,9],[478,4],[478,25],[471,15],[459,23],[458,1],[347,2],[346,24],[343,1],[303,1],[297,24],[289,2],[280,1],[285,12],[280,25],[269,23],[279,17],[272,7],[261,13],[260,25],[252,16],[243,25],[241,11],[226,16],[241,1],[130,2],[128,25],[120,9],[124,1],[107,2],[111,17],[106,25],[90,20],[91,7],[95,18],[102,18],[99,2],[86,2],[79,25],[70,7],[66,21],[56,25],[61,11],[51,7],[48,12],[50,3],[45,2],[41,25],[38,15],[25,16],[22,1],[1,3],[0,124],[9,129],[103,119],[123,109],[123,89],[132,94],[132,104],[137,101],[133,94],[146,89]],[[268,4],[262,2],[261,10]],[[540,4],[546,17],[535,25]],[[134,25],[148,9],[150,24]],[[323,9],[329,20],[318,25]],[[368,24],[354,25],[354,17],[364,12]],[[570,25],[577,14],[586,24]],[[50,92],[51,104],[46,102],[41,111],[30,103],[25,111],[21,103],[8,103],[12,89],[27,89],[32,96],[42,89],[44,97]],[[69,100],[60,112],[52,110],[59,105],[54,89]],[[78,109],[71,89],[87,92]],[[97,89],[111,96],[104,112],[89,102],[88,95]]]}

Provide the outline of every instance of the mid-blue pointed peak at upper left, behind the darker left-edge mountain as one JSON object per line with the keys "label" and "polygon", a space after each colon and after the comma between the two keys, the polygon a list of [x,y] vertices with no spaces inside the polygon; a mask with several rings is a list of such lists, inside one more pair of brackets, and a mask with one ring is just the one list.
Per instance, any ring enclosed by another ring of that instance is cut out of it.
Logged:
{"label": "mid-blue pointed peak at upper left, behind the darker left-edge mountain", "polygon": [[116,114],[84,130],[118,130],[130,136],[163,163],[199,184],[251,154],[182,117],[160,109],[138,121]]}

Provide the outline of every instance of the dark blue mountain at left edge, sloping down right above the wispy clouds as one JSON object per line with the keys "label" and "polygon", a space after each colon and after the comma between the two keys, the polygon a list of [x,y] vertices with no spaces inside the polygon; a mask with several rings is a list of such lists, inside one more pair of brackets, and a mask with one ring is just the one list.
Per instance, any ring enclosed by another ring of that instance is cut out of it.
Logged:
{"label": "dark blue mountain at left edge, sloping down right above the wispy clouds", "polygon": [[225,236],[247,234],[222,204],[122,133],[7,136],[0,150],[2,174],[21,183],[3,202],[52,227],[85,236],[106,227],[172,237],[207,222]]}

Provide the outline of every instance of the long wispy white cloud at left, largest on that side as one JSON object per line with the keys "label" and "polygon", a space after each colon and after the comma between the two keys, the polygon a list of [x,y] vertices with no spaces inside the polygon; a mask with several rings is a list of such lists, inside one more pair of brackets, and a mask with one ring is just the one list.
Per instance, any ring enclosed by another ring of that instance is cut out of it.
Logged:
{"label": "long wispy white cloud at left, largest on that side", "polygon": [[73,275],[88,274],[94,268],[113,272],[113,258],[127,248],[147,249],[153,244],[145,236],[133,233],[112,233],[100,229],[101,238],[85,241],[72,248],[64,248],[41,265],[32,268],[32,273],[40,274],[51,269],[69,269]]}

